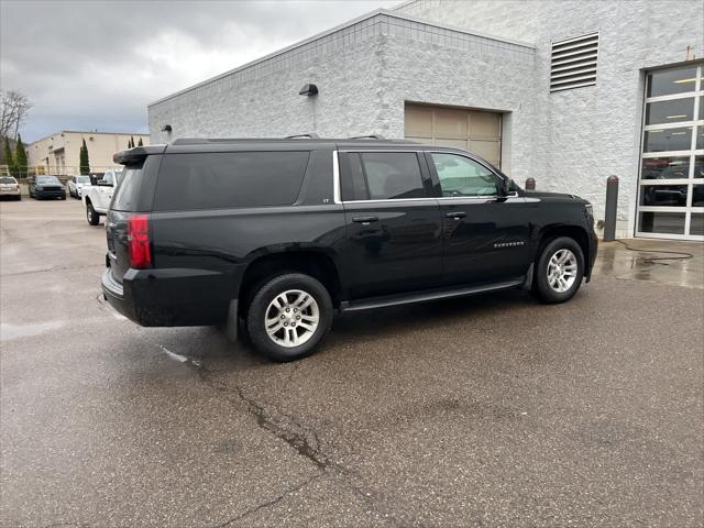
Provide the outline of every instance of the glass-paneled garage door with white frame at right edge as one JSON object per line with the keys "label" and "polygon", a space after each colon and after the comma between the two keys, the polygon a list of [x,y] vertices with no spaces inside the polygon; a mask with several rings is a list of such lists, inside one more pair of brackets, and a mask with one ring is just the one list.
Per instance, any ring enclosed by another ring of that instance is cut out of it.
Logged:
{"label": "glass-paneled garage door with white frame at right edge", "polygon": [[703,69],[647,75],[638,237],[704,240]]}

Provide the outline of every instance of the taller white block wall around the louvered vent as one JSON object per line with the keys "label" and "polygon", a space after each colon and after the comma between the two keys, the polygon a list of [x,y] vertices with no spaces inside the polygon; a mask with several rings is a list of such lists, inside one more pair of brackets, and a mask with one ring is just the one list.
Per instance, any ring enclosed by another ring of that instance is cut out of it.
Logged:
{"label": "taller white block wall around the louvered vent", "polygon": [[[603,218],[605,179],[615,174],[619,234],[634,232],[642,69],[685,61],[688,46],[704,57],[704,2],[416,0],[397,11],[535,44],[530,135],[538,188],[581,195]],[[594,31],[600,32],[596,86],[549,94],[551,42]],[[516,133],[514,148],[524,141],[530,140]]]}

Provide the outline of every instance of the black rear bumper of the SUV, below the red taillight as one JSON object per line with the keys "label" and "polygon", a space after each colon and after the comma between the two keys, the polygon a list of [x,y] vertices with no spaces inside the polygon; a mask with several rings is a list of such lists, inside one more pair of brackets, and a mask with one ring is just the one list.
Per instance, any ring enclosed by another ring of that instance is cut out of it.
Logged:
{"label": "black rear bumper of the SUV, below the red taillight", "polygon": [[110,306],[142,327],[223,323],[233,300],[230,293],[238,292],[223,274],[173,268],[128,270],[119,283],[108,267],[101,287]]}

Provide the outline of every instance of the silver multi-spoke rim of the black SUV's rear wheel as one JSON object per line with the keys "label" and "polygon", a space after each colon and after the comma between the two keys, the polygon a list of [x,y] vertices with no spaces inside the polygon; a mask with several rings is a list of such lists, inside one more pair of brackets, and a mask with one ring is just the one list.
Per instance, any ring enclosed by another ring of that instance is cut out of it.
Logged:
{"label": "silver multi-spoke rim of the black SUV's rear wheel", "polygon": [[264,314],[268,338],[287,349],[300,346],[312,338],[319,321],[318,302],[302,289],[289,289],[277,295]]}

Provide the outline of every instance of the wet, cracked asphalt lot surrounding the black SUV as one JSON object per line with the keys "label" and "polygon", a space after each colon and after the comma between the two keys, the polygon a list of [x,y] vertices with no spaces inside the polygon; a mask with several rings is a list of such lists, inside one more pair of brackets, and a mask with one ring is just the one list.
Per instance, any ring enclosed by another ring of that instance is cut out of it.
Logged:
{"label": "wet, cracked asphalt lot surrounding the black SUV", "polygon": [[339,317],[274,364],[101,302],[77,201],[0,228],[2,526],[704,524],[704,295],[661,268]]}

